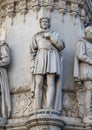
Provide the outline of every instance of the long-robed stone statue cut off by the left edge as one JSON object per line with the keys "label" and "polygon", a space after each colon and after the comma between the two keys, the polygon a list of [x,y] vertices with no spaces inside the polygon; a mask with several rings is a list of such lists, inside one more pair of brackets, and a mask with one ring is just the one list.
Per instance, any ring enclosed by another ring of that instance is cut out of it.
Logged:
{"label": "long-robed stone statue cut off by the left edge", "polygon": [[10,63],[9,47],[5,41],[0,40],[0,89],[1,89],[1,114],[9,118],[11,113],[10,90],[6,66]]}

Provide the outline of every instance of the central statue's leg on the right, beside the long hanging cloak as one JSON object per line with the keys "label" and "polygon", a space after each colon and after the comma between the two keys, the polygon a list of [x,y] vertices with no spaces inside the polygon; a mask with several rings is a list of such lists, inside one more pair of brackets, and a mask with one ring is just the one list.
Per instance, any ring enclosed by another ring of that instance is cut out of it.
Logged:
{"label": "central statue's leg on the right, beside the long hanging cloak", "polygon": [[54,108],[55,100],[55,74],[47,74],[47,108]]}

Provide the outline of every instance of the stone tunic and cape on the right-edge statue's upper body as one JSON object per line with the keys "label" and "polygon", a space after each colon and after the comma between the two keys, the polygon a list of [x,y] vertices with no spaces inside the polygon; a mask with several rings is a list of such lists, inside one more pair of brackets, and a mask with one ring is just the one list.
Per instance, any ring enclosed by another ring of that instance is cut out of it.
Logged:
{"label": "stone tunic and cape on the right-edge statue's upper body", "polygon": [[83,81],[92,80],[92,43],[80,40],[77,45],[74,77]]}

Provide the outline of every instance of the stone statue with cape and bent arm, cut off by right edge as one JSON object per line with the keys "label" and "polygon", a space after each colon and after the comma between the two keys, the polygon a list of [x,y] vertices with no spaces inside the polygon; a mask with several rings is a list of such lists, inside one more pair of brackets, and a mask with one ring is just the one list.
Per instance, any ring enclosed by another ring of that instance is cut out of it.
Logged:
{"label": "stone statue with cape and bent arm, cut off by right edge", "polygon": [[[84,122],[92,120],[92,26],[85,28],[75,53],[75,83],[78,89],[79,112]],[[91,116],[91,117],[90,117]],[[92,122],[92,121],[91,121]]]}

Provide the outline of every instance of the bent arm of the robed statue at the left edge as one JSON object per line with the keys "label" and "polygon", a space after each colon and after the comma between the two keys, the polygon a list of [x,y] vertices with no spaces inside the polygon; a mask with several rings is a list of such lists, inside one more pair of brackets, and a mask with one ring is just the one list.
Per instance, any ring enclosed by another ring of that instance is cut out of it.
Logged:
{"label": "bent arm of the robed statue at the left edge", "polygon": [[9,48],[6,44],[1,46],[1,59],[0,59],[0,66],[6,66],[10,63],[10,53]]}

